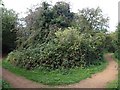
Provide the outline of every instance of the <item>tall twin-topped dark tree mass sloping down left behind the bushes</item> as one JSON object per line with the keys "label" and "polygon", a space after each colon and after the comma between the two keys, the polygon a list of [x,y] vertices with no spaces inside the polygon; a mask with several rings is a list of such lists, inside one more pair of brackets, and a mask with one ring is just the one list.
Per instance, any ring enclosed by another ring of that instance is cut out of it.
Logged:
{"label": "tall twin-topped dark tree mass sloping down left behind the bushes", "polygon": [[72,26],[73,17],[74,13],[70,11],[69,4],[65,2],[57,2],[54,6],[43,2],[30,9],[28,16],[25,17],[26,28],[30,34],[23,47],[26,47],[26,44],[31,43],[32,40],[39,44],[48,42],[54,38],[54,33],[59,28]]}

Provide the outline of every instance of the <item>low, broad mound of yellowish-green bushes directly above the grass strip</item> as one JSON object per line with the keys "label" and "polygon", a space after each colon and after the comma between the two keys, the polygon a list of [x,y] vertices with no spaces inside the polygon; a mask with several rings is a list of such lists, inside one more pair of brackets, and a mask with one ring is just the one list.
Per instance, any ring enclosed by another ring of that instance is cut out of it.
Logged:
{"label": "low, broad mound of yellowish-green bushes directly above the grass strip", "polygon": [[7,60],[25,69],[87,67],[103,61],[104,40],[103,33],[92,36],[73,28],[58,30],[53,40],[37,44],[34,48],[13,51]]}

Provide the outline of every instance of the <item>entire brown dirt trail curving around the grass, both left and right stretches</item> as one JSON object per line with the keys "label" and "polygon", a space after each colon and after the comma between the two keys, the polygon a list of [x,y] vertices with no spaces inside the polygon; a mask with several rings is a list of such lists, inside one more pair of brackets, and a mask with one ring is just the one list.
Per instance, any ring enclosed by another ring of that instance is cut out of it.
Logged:
{"label": "entire brown dirt trail curving around the grass, both left and right stretches", "polygon": [[[91,78],[80,81],[79,83],[55,86],[56,88],[105,88],[108,82],[117,79],[118,64],[113,60],[111,54],[107,54],[105,59],[109,64],[102,72],[93,74]],[[8,81],[14,88],[46,88],[47,85],[42,85],[30,80],[25,79],[22,76],[17,76],[6,69],[2,69],[3,79]],[[51,87],[49,87],[51,88]]]}

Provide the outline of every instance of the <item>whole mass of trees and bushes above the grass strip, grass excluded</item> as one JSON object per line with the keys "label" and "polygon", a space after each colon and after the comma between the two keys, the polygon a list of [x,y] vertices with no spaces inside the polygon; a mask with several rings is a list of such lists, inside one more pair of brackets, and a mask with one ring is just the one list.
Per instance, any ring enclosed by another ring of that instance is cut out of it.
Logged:
{"label": "whole mass of trees and bushes above the grass strip, grass excluded", "polygon": [[99,7],[74,13],[66,2],[54,6],[43,2],[29,10],[23,19],[26,26],[18,23],[16,28],[16,14],[5,8],[3,12],[3,40],[8,40],[3,46],[7,50],[16,46],[7,58],[15,66],[28,70],[85,68],[100,65],[105,51],[117,49],[116,32],[107,33],[109,19]]}

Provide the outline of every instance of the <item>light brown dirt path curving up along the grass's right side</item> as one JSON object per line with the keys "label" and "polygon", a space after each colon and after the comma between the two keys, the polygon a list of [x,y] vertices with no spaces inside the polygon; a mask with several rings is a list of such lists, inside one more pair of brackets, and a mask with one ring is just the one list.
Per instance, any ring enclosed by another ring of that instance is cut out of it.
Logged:
{"label": "light brown dirt path curving up along the grass's right side", "polygon": [[113,60],[111,54],[107,54],[105,58],[108,60],[109,64],[103,72],[93,74],[91,78],[82,80],[77,84],[64,86],[64,88],[104,88],[108,82],[117,79],[117,63]]}

